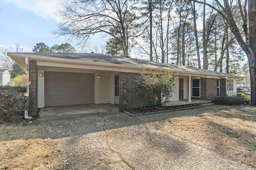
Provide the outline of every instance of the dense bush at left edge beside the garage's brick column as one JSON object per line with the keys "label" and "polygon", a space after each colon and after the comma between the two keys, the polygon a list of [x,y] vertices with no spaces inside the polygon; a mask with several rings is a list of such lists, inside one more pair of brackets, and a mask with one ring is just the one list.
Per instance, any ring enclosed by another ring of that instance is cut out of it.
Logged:
{"label": "dense bush at left edge beside the garage's brick column", "polygon": [[0,86],[0,122],[14,121],[14,117],[24,114],[28,100],[26,87]]}

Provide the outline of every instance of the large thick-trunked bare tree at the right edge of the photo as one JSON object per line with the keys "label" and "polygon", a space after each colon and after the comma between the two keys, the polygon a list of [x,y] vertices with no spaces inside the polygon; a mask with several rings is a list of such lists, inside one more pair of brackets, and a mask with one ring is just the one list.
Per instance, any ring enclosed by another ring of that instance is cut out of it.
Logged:
{"label": "large thick-trunked bare tree at the right edge of the photo", "polygon": [[238,27],[239,23],[234,20],[229,0],[223,0],[223,4],[215,0],[217,7],[198,0],[192,1],[206,4],[216,10],[228,22],[230,30],[234,33],[238,44],[248,58],[251,80],[251,105],[256,105],[256,1],[245,0],[242,3],[241,0],[237,0],[243,23],[242,31]]}

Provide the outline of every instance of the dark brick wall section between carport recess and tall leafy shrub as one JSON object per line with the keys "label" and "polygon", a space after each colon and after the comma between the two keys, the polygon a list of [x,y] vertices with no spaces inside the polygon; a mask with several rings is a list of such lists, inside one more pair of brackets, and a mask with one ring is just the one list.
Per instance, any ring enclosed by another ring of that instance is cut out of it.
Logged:
{"label": "dark brick wall section between carport recess and tall leafy shrub", "polygon": [[[119,109],[140,107],[142,100],[138,98],[140,91],[136,88],[140,73],[119,72]],[[126,91],[126,92],[125,92]]]}

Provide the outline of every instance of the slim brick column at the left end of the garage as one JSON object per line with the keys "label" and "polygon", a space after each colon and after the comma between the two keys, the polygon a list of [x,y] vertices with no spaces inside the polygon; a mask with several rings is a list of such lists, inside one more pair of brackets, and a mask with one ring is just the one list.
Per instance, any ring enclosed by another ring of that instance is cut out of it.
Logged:
{"label": "slim brick column at the left end of the garage", "polygon": [[36,61],[29,61],[29,81],[28,86],[28,115],[34,116],[37,112],[37,67]]}

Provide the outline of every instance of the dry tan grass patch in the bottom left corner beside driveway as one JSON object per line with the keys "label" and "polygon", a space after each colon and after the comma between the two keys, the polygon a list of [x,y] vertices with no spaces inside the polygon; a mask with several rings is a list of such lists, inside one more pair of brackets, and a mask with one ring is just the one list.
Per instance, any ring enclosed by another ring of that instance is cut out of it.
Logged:
{"label": "dry tan grass patch in the bottom left corner beside driveway", "polygon": [[34,122],[0,127],[0,169],[64,169],[56,143]]}

